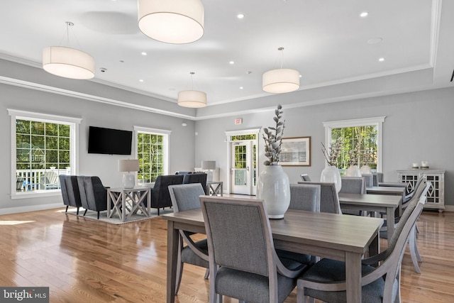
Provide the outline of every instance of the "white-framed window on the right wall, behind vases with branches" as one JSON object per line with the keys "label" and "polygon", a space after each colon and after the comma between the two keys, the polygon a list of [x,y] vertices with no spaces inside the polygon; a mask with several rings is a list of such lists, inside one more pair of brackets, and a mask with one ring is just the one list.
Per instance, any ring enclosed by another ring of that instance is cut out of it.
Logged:
{"label": "white-framed window on the right wall, behind vases with branches", "polygon": [[342,138],[337,167],[345,170],[358,154],[360,165],[369,165],[372,170],[382,171],[382,123],[385,117],[323,122],[325,146],[335,144]]}

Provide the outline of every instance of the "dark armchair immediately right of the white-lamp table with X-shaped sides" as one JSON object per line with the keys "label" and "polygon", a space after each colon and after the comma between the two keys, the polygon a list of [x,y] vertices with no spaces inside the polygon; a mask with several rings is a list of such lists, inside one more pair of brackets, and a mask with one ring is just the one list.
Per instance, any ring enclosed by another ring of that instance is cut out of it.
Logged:
{"label": "dark armchair immediately right of the white-lamp table with X-shaped sides", "polygon": [[151,189],[151,207],[159,209],[172,206],[169,194],[169,185],[183,184],[184,175],[163,175],[157,176],[155,186]]}

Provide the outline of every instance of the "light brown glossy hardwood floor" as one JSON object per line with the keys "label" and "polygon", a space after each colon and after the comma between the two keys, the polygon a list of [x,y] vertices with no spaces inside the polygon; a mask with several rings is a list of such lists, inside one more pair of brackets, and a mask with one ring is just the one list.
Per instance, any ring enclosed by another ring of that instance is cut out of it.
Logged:
{"label": "light brown glossy hardwood floor", "polygon": [[[454,213],[423,211],[418,224],[422,273],[414,271],[407,248],[402,302],[453,302]],[[50,302],[162,303],[166,243],[167,221],[162,219],[116,226],[64,209],[3,215],[0,285],[48,286]],[[204,272],[185,265],[175,302],[208,301]],[[296,302],[296,291],[285,302]]]}

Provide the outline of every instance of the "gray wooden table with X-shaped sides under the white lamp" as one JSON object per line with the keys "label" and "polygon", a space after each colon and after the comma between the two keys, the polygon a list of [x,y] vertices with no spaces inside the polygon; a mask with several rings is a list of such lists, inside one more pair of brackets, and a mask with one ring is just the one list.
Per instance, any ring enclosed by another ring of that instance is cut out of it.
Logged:
{"label": "gray wooden table with X-shaped sides under the white lamp", "polygon": [[140,212],[150,216],[151,191],[150,187],[109,188],[107,189],[107,217],[118,214],[121,221],[131,219],[133,214]]}

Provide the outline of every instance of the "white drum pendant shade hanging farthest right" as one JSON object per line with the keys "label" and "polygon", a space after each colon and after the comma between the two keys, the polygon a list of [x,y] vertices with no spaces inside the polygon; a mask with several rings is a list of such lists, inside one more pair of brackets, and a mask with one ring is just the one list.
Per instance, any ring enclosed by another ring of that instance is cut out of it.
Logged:
{"label": "white drum pendant shade hanging farthest right", "polygon": [[269,70],[263,74],[262,87],[265,92],[293,92],[299,89],[299,72],[287,68]]}

